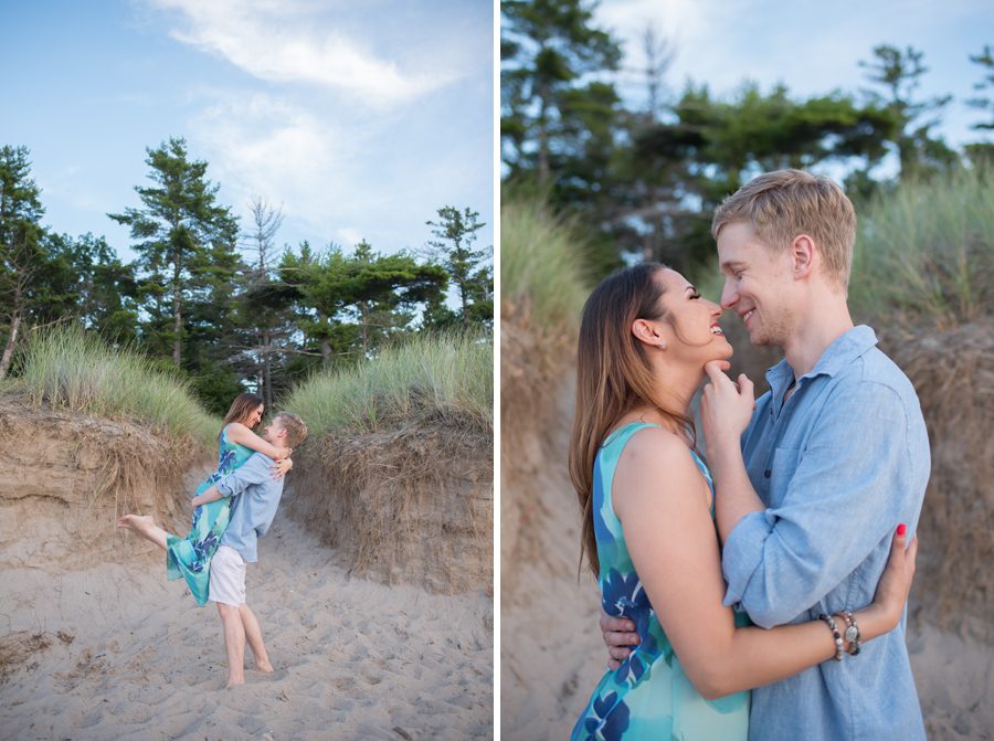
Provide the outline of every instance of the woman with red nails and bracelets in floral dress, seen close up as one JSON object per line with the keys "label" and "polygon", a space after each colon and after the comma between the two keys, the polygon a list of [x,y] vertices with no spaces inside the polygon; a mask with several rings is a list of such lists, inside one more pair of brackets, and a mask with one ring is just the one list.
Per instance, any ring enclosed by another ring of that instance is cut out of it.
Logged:
{"label": "woman with red nails and bracelets in floral dress, seen close up", "polygon": [[[604,279],[584,306],[570,476],[602,607],[631,618],[639,643],[603,676],[574,740],[745,739],[749,688],[858,653],[827,621],[766,631],[721,604],[713,487],[689,411],[705,363],[732,353],[720,315],[659,264]],[[898,528],[875,602],[855,613],[863,641],[900,620],[917,546],[905,540]]]}

